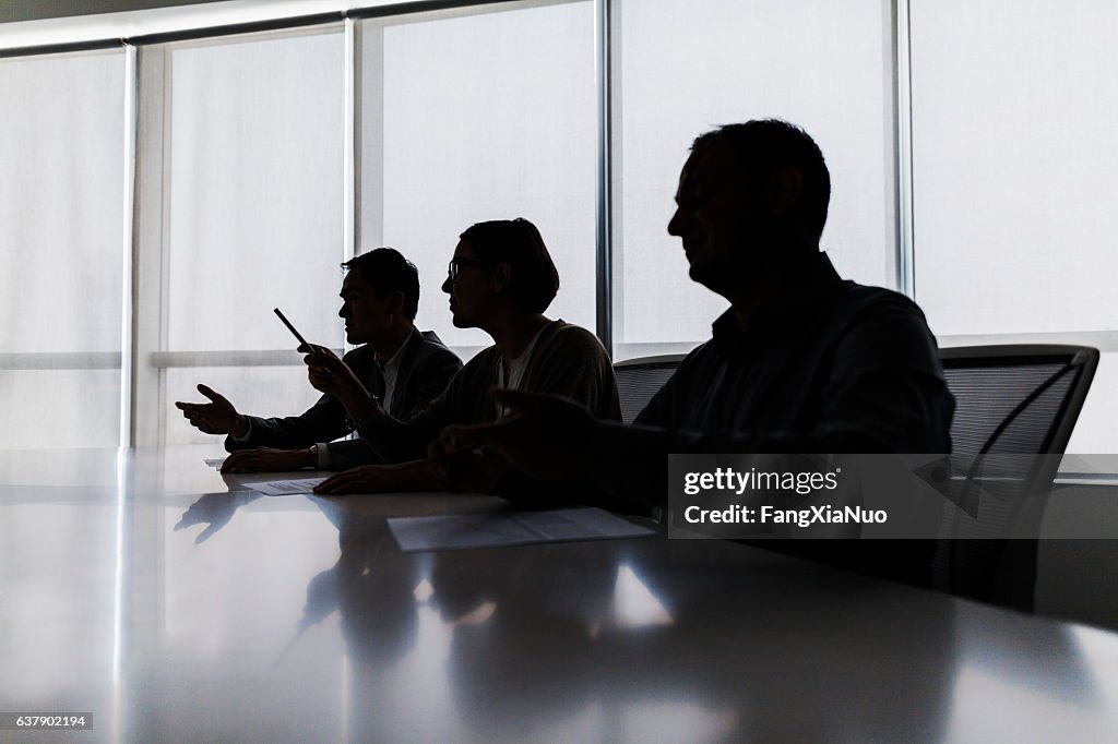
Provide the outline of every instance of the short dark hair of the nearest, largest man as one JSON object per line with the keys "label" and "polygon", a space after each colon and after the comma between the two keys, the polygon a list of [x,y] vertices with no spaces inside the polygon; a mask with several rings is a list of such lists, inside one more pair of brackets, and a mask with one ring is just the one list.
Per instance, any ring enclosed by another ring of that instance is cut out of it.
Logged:
{"label": "short dark hair of the nearest, largest man", "polygon": [[823,152],[807,132],[778,118],[743,124],[726,124],[695,137],[694,152],[708,144],[729,149],[735,164],[754,185],[761,185],[784,165],[793,165],[803,177],[794,213],[816,239],[823,235],[831,201],[831,173]]}

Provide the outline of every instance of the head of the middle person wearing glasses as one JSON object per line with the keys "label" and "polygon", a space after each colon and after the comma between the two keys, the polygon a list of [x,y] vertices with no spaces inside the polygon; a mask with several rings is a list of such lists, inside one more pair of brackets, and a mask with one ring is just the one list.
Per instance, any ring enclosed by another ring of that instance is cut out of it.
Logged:
{"label": "head of the middle person wearing glasses", "polygon": [[542,313],[559,290],[543,238],[525,219],[479,222],[459,236],[443,292],[458,327],[484,326],[498,312]]}

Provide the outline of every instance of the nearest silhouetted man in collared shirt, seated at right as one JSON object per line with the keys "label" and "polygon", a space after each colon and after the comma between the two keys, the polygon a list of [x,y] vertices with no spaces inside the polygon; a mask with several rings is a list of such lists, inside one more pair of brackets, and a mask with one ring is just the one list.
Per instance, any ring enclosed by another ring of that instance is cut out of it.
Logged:
{"label": "nearest silhouetted man in collared shirt, seated at right", "polygon": [[[667,452],[950,451],[954,399],[923,314],[898,293],[839,277],[819,251],[830,193],[818,146],[790,124],[752,121],[701,135],[667,230],[683,244],[691,278],[730,302],[713,337],[636,426],[500,391],[496,400],[521,416],[451,428],[443,448],[495,448],[537,476],[584,474],[657,504],[666,499]],[[893,556],[866,544],[796,542],[798,552],[853,567],[930,578],[930,545],[919,541],[892,546]]]}

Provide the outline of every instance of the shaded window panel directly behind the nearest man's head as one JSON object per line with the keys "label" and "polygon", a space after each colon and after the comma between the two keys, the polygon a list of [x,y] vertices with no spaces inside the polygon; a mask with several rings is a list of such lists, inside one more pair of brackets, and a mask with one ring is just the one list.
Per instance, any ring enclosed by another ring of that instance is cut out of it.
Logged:
{"label": "shaded window panel directly behind the nearest man's head", "polygon": [[803,126],[831,170],[823,248],[847,278],[896,284],[888,2],[661,0],[613,10],[615,359],[690,350],[727,307],[688,279],[666,230],[688,147],[719,124]]}

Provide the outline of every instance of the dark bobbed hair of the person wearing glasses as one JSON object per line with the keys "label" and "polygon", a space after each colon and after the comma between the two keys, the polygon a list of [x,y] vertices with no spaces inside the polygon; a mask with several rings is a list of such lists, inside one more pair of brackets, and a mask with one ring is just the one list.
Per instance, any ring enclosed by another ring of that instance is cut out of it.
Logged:
{"label": "dark bobbed hair of the person wearing glasses", "polygon": [[509,296],[525,313],[542,313],[559,292],[559,271],[536,226],[514,220],[477,222],[458,236],[470,244],[480,260],[508,264],[512,268]]}

